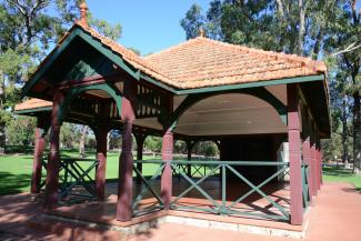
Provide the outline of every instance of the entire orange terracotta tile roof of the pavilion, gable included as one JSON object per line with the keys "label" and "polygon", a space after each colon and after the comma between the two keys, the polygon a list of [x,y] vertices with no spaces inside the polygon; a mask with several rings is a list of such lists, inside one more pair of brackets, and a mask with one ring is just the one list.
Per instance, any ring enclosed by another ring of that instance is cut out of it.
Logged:
{"label": "entire orange terracotta tile roof of the pavilion, gable included", "polygon": [[[61,38],[56,49],[76,27],[82,28],[102,44],[119,53],[136,69],[177,89],[259,82],[320,74],[327,71],[322,61],[230,44],[204,37],[188,40],[142,58],[79,22],[74,23]],[[48,61],[54,50],[39,64],[38,70]],[[17,104],[16,110],[51,106],[50,101],[30,99]]]}

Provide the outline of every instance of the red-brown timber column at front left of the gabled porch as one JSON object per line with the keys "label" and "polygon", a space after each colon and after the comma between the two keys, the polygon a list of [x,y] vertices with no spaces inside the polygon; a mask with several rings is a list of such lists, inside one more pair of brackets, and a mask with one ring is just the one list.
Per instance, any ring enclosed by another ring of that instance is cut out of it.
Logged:
{"label": "red-brown timber column at front left of the gabled porch", "polygon": [[59,154],[59,132],[60,132],[60,107],[63,102],[63,93],[56,89],[52,100],[52,112],[51,112],[51,132],[50,132],[50,153],[47,167],[47,185],[44,193],[46,209],[53,209],[58,204],[58,187],[59,187],[59,167],[60,167],[60,154]]}

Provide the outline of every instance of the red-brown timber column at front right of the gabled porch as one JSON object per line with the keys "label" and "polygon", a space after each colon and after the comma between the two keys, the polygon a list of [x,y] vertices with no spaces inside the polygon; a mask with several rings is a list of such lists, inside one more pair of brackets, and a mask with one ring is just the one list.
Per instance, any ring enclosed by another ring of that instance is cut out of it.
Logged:
{"label": "red-brown timber column at front right of the gabled porch", "polygon": [[132,219],[132,188],[133,188],[133,157],[132,148],[132,125],[134,114],[134,93],[137,86],[132,80],[124,80],[124,90],[121,103],[121,118],[123,120],[122,150],[119,159],[118,179],[118,203],[117,220],[130,221]]}

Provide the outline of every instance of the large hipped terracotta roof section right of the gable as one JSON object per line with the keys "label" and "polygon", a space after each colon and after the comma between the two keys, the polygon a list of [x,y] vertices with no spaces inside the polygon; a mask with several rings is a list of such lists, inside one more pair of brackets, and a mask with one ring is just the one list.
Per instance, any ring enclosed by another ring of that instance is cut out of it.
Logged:
{"label": "large hipped terracotta roof section right of the gable", "polygon": [[267,81],[325,72],[323,62],[198,37],[144,58],[180,89]]}

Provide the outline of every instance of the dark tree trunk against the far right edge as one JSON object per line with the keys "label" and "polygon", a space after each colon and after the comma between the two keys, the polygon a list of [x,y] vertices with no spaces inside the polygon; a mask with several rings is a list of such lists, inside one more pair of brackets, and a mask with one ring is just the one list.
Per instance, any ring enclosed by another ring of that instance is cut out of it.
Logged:
{"label": "dark tree trunk against the far right edge", "polygon": [[361,114],[360,93],[353,93],[353,172],[361,173]]}

